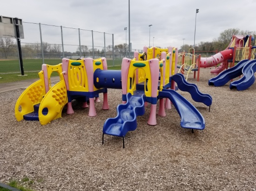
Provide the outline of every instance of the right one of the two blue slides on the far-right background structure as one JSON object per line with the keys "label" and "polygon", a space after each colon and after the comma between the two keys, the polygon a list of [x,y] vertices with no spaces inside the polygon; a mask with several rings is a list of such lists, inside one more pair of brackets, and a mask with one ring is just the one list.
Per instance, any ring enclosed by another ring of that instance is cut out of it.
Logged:
{"label": "right one of the two blue slides on the far-right background structure", "polygon": [[230,89],[237,89],[238,91],[248,89],[254,82],[256,72],[256,60],[250,60],[244,65],[242,73],[243,77],[239,80],[230,83]]}

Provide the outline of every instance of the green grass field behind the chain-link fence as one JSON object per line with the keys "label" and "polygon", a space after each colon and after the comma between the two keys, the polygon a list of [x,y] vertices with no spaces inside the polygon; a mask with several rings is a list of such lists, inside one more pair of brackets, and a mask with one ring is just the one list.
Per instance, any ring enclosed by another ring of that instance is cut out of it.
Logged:
{"label": "green grass field behind the chain-link fence", "polygon": [[[113,67],[113,60],[107,60],[108,70],[121,70],[121,58],[115,59]],[[45,59],[45,64],[57,65],[61,63],[61,59]],[[0,60],[0,83],[18,82],[28,79],[39,79],[38,72],[42,69],[42,59],[24,59],[23,60],[24,74],[27,76],[18,76],[20,73],[19,60]],[[32,72],[34,71],[34,72]],[[57,76],[54,72],[52,76]]]}

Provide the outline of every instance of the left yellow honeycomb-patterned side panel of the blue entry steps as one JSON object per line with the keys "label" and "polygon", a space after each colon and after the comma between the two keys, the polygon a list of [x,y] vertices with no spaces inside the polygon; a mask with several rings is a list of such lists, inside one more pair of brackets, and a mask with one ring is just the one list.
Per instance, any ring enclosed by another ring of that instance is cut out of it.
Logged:
{"label": "left yellow honeycomb-patterned side panel of the blue entry steps", "polygon": [[38,73],[40,80],[32,83],[20,95],[15,105],[15,117],[17,121],[23,119],[23,115],[29,114],[34,111],[34,105],[41,102],[45,95],[44,73]]}

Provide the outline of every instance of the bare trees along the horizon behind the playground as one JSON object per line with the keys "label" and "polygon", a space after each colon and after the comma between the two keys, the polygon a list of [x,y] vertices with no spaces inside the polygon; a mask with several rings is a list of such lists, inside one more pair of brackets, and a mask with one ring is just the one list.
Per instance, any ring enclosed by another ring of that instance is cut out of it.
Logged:
{"label": "bare trees along the horizon behind the playground", "polygon": [[[213,38],[212,42],[200,42],[197,45],[195,45],[195,51],[222,51],[224,50],[228,45],[232,38],[232,35],[252,35],[254,39],[256,38],[256,32],[249,32],[239,30],[239,29],[227,29],[220,33],[220,36],[218,38]],[[252,45],[255,45],[255,40],[252,41]],[[184,44],[181,46],[179,51],[185,51],[188,52],[190,48],[192,48],[193,45]],[[161,47],[158,47],[161,48]],[[56,45],[56,44],[49,44],[47,42],[43,42],[42,46],[39,42],[33,43],[33,44],[22,44],[21,50],[22,55],[25,55],[25,57],[33,58],[33,57],[41,57],[42,50],[44,52],[44,55],[46,57],[61,57],[63,55],[62,53],[62,46]],[[119,44],[114,46],[114,54],[118,57],[126,57],[128,54],[128,44]],[[81,51],[81,54],[80,54]],[[89,48],[87,45],[81,45],[77,47],[75,52],[69,52],[64,51],[65,57],[69,56],[82,56],[82,57],[104,57],[106,53],[109,55],[113,54],[113,45],[108,45],[106,48],[102,47],[102,49],[98,48]],[[8,58],[8,57],[17,57],[17,44],[16,41],[12,38],[0,38],[0,58]]]}

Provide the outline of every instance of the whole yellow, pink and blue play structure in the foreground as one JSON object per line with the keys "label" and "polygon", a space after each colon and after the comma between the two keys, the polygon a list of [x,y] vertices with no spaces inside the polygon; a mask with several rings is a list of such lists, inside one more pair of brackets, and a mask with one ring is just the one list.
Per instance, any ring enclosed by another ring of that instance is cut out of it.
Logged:
{"label": "whole yellow, pink and blue play structure in the foreground", "polygon": [[[175,89],[188,91],[196,102],[210,106],[211,96],[202,94],[195,84],[187,83],[180,74],[175,75],[177,50],[144,47],[142,54],[135,52],[134,59],[123,58],[121,70],[107,70],[106,59],[83,58],[62,59],[62,63],[42,65],[40,80],[31,84],[19,97],[15,105],[18,121],[37,120],[42,125],[61,117],[67,104],[67,114],[73,114],[72,100],[82,99],[83,108],[89,107],[89,116],[96,116],[94,97],[103,93],[102,109],[108,109],[107,89],[122,89],[122,104],[117,107],[117,116],[109,118],[103,126],[104,134],[123,138],[128,131],[137,127],[136,116],[143,115],[145,103],[151,103],[149,125],[156,125],[156,104],[158,115],[165,116],[165,108],[175,106],[181,117],[181,127],[202,130],[205,122],[200,112]],[[50,76],[56,71],[60,82],[51,87]],[[166,102],[164,104],[164,99]],[[89,106],[87,104],[89,101]],[[171,102],[170,102],[171,101]]]}

